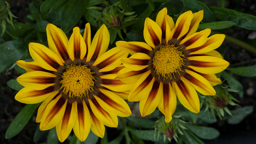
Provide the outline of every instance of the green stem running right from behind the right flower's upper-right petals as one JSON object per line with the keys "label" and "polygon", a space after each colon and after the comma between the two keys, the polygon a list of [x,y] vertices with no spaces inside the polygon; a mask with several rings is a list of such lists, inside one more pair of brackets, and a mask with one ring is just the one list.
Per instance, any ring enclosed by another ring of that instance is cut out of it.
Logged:
{"label": "green stem running right from behind the right flower's upper-right petals", "polygon": [[[218,34],[218,32],[212,31],[211,34]],[[244,43],[243,41],[241,41],[239,39],[236,39],[234,37],[226,35],[225,40],[230,42],[230,43],[236,44],[236,45],[238,45],[238,46],[256,54],[256,48],[255,47],[251,46],[250,44]]]}

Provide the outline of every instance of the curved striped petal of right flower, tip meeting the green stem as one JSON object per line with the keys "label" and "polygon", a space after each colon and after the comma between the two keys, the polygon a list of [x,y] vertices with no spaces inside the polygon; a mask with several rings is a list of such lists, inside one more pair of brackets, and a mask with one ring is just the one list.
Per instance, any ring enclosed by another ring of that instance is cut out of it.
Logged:
{"label": "curved striped petal of right flower, tip meeting the green stem", "polygon": [[216,34],[207,38],[207,41],[199,47],[190,49],[190,54],[202,54],[218,48],[225,39],[225,35]]}

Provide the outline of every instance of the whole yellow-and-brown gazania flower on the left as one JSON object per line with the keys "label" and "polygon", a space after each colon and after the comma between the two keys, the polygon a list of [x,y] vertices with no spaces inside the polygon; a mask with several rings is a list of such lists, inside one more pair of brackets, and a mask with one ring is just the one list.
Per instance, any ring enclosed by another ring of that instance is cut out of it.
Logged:
{"label": "whole yellow-and-brown gazania flower on the left", "polygon": [[128,52],[118,48],[106,52],[109,33],[105,25],[97,31],[92,44],[89,23],[84,37],[76,27],[69,40],[52,24],[47,25],[46,31],[50,49],[30,43],[29,52],[34,61],[17,61],[27,73],[17,78],[25,87],[15,99],[27,104],[43,101],[36,122],[41,122],[40,130],[56,126],[61,142],[72,128],[81,141],[90,129],[102,138],[104,125],[117,127],[117,116],[131,115],[129,106],[118,95],[125,98],[132,85],[115,79],[123,68],[121,59]]}

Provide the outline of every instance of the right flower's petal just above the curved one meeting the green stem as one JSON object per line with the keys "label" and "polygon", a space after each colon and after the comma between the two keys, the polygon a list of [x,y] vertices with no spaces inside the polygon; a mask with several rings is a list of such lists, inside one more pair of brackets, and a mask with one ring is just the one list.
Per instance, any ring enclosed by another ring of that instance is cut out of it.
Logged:
{"label": "right flower's petal just above the curved one meeting the green stem", "polygon": [[186,47],[186,50],[199,47],[207,41],[207,36],[209,36],[210,33],[211,33],[211,29],[209,28],[202,30],[200,32],[194,33],[191,36],[187,36],[186,38],[184,38],[180,42],[180,45],[182,45],[181,47]]}

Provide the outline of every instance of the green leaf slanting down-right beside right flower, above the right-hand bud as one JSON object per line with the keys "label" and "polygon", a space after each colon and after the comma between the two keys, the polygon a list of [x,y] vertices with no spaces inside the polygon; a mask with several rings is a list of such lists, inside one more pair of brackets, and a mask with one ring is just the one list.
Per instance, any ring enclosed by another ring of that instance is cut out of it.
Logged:
{"label": "green leaf slanting down-right beside right flower, above the right-hand bud", "polygon": [[243,85],[240,82],[238,82],[233,76],[230,76],[228,73],[224,71],[222,72],[222,76],[227,80],[230,88],[239,91],[239,97],[243,97]]}

